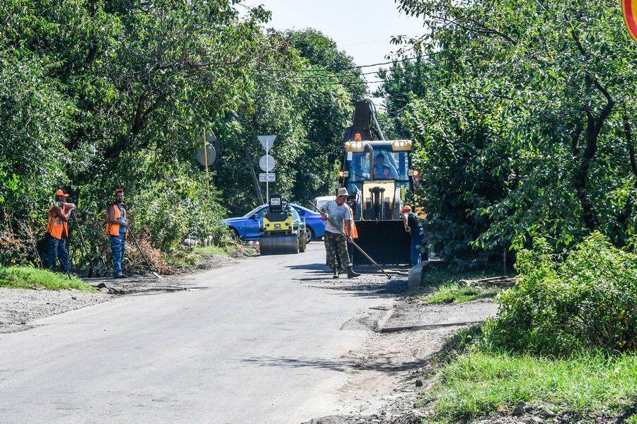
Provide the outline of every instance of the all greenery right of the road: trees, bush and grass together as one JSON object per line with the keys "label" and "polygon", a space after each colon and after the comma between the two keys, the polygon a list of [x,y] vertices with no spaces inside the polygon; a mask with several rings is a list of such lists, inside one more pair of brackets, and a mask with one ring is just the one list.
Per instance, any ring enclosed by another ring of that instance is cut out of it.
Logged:
{"label": "all greenery right of the road: trees, bush and grass together", "polygon": [[428,406],[448,422],[518,401],[637,421],[637,43],[621,8],[397,3],[427,31],[396,37],[412,59],[379,72],[377,95],[386,135],[415,141],[425,240],[453,272],[517,272],[498,316],[454,339]]}

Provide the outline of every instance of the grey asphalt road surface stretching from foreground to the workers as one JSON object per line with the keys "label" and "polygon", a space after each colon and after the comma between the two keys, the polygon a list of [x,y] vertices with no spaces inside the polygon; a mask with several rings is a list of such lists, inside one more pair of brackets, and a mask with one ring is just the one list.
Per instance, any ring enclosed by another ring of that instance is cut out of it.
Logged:
{"label": "grey asphalt road surface stretching from foreground to the workers", "polygon": [[[0,334],[0,423],[300,423],[335,413],[341,326],[391,298],[311,287],[323,245],[195,277],[203,290],[118,298]],[[340,411],[346,412],[346,411]]]}

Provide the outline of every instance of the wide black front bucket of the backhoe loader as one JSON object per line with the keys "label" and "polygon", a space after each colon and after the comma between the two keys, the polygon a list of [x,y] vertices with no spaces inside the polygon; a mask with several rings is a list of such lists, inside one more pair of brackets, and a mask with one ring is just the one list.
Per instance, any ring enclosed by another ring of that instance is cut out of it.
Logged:
{"label": "wide black front bucket of the backhoe loader", "polygon": [[[379,265],[409,265],[411,235],[405,231],[402,220],[356,221],[356,244]],[[372,265],[358,249],[352,251],[352,264]]]}

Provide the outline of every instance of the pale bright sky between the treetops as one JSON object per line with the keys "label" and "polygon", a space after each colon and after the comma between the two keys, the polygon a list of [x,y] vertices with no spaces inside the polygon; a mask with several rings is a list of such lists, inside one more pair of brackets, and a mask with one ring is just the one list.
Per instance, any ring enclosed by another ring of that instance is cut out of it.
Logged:
{"label": "pale bright sky between the treetops", "polygon": [[[244,4],[263,4],[272,11],[272,20],[265,25],[268,28],[320,30],[359,66],[387,61],[386,55],[397,49],[390,44],[391,37],[425,33],[422,20],[399,13],[394,0],[247,0]],[[364,72],[379,67],[364,68]],[[375,74],[365,77],[367,81],[378,79]],[[369,84],[372,92],[376,86]]]}

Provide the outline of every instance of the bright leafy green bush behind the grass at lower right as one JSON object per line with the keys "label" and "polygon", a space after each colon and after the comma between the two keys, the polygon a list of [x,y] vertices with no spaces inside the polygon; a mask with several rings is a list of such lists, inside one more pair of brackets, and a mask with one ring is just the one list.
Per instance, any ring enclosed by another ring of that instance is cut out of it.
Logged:
{"label": "bright leafy green bush behind the grass at lower right", "polygon": [[494,348],[569,355],[637,351],[637,254],[598,232],[556,264],[548,243],[517,257],[515,288],[501,293],[485,326]]}

